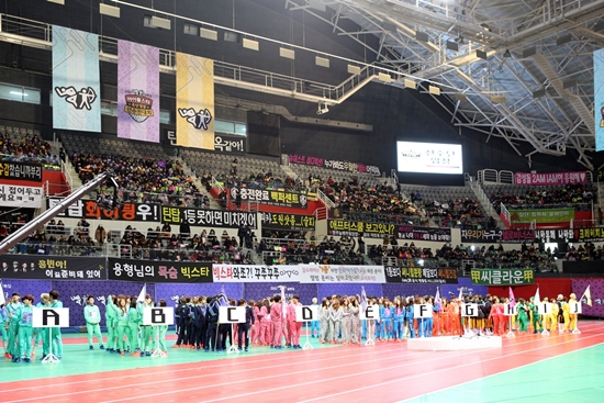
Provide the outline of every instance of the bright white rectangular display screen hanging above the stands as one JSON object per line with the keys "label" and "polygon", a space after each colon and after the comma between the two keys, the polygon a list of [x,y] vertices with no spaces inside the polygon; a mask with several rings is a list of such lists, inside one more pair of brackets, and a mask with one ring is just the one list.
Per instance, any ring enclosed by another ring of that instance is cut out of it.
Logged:
{"label": "bright white rectangular display screen hanging above the stands", "polygon": [[460,144],[396,142],[399,172],[462,175]]}

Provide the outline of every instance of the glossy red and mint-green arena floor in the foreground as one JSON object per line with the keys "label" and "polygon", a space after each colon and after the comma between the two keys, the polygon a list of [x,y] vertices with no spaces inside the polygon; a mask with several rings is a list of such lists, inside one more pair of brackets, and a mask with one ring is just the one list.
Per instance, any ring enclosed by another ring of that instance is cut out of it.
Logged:
{"label": "glossy red and mint-green arena floor in the foreground", "polygon": [[311,338],[312,350],[170,348],[166,358],[91,351],[81,335],[65,335],[58,363],[0,361],[0,402],[601,402],[604,322],[579,325],[580,335],[519,334],[488,350]]}

